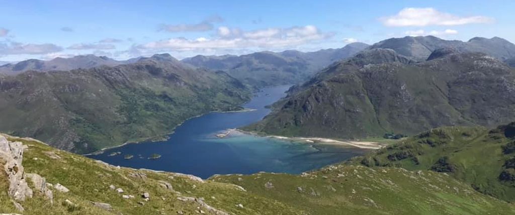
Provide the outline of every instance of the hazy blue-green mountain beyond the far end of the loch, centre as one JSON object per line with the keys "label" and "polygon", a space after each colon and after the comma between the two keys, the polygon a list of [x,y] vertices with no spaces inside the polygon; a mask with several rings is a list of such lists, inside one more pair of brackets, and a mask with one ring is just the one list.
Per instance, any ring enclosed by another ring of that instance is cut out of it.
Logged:
{"label": "hazy blue-green mountain beyond the far end of the loch, centre", "polygon": [[234,56],[195,56],[182,62],[197,67],[223,70],[236,79],[255,86],[300,83],[329,64],[353,56],[367,48],[364,43],[352,43],[343,48],[315,52],[287,50],[255,52]]}

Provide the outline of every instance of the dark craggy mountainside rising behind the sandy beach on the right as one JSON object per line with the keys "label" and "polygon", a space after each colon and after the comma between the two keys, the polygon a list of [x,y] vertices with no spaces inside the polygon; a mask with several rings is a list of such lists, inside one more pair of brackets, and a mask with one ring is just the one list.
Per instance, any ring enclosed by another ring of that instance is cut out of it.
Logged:
{"label": "dark craggy mountainside rising behind the sandy beach on the right", "polygon": [[245,128],[283,136],[362,138],[440,126],[515,120],[515,70],[482,53],[439,49],[413,63],[372,49],[290,89],[263,121]]}

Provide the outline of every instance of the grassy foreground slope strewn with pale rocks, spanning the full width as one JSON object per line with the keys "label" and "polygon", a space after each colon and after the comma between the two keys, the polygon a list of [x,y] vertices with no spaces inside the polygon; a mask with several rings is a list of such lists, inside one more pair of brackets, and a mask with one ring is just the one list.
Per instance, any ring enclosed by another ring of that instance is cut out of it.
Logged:
{"label": "grassy foreground slope strewn with pale rocks, spanning the full width", "polygon": [[[431,171],[334,165],[302,175],[216,175],[202,181],[191,175],[115,167],[33,139],[3,138],[0,157],[9,163],[2,166],[17,162],[12,155],[20,161],[16,168],[1,170],[0,211],[7,213],[515,213],[513,205]],[[9,190],[21,191],[9,189],[20,184],[25,192],[9,195]]]}

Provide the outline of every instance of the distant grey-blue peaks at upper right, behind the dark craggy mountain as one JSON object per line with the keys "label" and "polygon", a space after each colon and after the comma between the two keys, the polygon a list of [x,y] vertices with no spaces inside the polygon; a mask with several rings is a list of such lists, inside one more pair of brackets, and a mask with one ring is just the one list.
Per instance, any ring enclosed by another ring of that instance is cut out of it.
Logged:
{"label": "distant grey-blue peaks at upper right, behind the dark craggy mountain", "polygon": [[369,47],[369,49],[374,48],[390,48],[400,55],[416,61],[425,61],[434,50],[440,48],[455,48],[463,52],[483,52],[500,60],[515,57],[515,45],[498,37],[491,39],[476,37],[468,42],[442,40],[434,36],[391,38]]}

